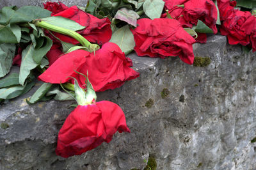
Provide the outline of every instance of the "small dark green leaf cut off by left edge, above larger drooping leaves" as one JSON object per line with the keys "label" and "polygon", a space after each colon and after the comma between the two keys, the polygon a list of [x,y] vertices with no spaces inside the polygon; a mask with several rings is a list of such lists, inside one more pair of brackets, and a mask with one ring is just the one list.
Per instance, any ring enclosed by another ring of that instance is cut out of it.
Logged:
{"label": "small dark green leaf cut off by left edge, above larger drooping leaves", "polygon": [[10,25],[0,27],[0,43],[17,43],[17,37],[13,33]]}

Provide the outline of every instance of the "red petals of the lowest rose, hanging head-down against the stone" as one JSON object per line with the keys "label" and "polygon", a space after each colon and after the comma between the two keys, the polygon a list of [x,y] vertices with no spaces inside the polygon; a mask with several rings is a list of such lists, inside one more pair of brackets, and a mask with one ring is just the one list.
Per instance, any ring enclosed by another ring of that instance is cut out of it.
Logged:
{"label": "red petals of the lowest rose, hanging head-down against the stone", "polygon": [[71,157],[109,143],[113,134],[130,132],[122,109],[109,101],[78,105],[72,111],[58,135],[56,154]]}

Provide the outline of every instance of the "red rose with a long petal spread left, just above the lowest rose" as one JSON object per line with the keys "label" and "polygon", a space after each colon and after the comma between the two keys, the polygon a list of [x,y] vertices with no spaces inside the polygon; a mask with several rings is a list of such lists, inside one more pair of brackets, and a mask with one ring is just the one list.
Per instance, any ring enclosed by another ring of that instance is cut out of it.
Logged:
{"label": "red rose with a long petal spread left, just above the lowest rose", "polygon": [[124,52],[115,43],[105,43],[102,48],[92,52],[75,50],[57,59],[47,70],[38,77],[41,81],[64,83],[70,80],[67,76],[77,79],[79,85],[84,84],[85,78],[74,72],[87,75],[95,91],[115,89],[125,81],[135,79],[140,73],[132,68],[131,59],[125,57]]}

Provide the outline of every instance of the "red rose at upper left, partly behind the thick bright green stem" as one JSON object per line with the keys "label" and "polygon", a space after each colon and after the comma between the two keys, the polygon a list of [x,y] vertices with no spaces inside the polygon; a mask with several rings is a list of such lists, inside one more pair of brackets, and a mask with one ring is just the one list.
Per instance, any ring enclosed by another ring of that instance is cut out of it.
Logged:
{"label": "red rose at upper left, partly behind the thick bright green stem", "polygon": [[[60,3],[60,6],[63,4]],[[59,9],[58,7],[56,7]],[[77,31],[80,35],[84,36],[89,42],[98,43],[102,45],[110,40],[112,31],[110,27],[110,20],[108,18],[98,19],[90,13],[86,13],[77,6],[71,6],[61,12],[59,10],[52,11],[54,15],[52,16],[61,16],[67,19],[76,21],[81,26],[85,26],[84,29]],[[79,43],[76,39],[71,38],[70,36],[61,35],[60,33],[54,33],[55,36],[60,38],[63,42],[77,44]]]}

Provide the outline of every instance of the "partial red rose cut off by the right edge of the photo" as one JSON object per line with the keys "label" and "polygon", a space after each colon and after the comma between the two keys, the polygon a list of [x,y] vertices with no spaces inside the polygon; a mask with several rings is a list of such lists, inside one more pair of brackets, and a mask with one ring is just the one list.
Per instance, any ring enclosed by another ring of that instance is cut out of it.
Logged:
{"label": "partial red rose cut off by the right edge of the photo", "polygon": [[246,33],[246,35],[250,35],[250,40],[252,43],[252,50],[253,52],[256,51],[256,17],[252,15],[249,17],[241,26],[241,30]]}

